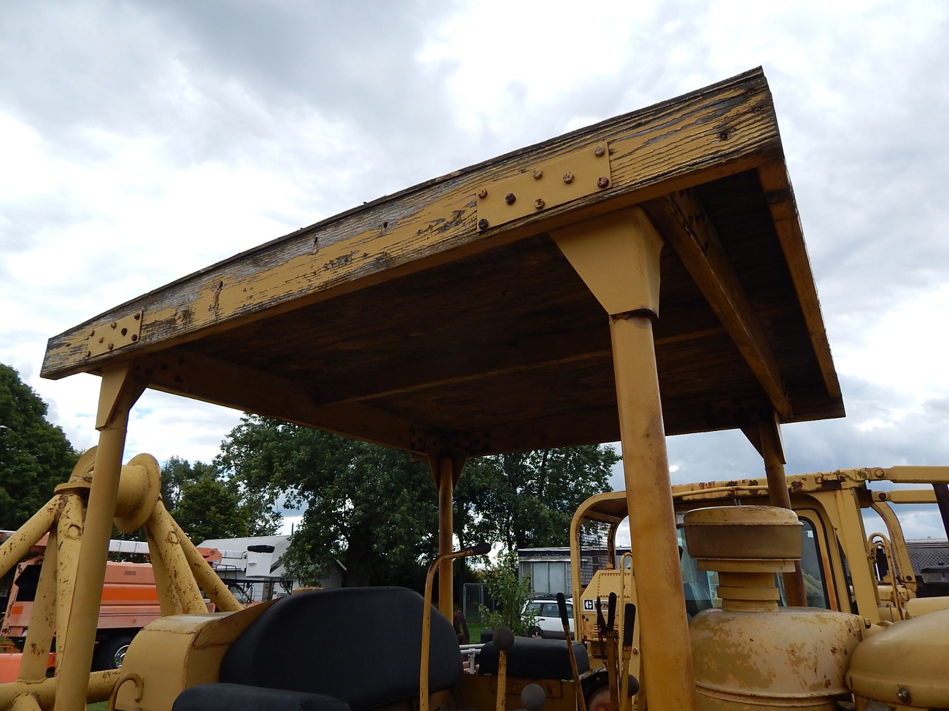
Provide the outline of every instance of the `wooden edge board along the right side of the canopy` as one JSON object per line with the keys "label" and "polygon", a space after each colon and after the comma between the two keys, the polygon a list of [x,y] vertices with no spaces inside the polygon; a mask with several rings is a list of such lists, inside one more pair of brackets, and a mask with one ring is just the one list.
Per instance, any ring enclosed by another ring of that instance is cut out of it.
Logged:
{"label": "wooden edge board along the right side of the canopy", "polygon": [[[840,398],[840,381],[837,379],[833,357],[830,355],[824,317],[821,314],[820,300],[817,298],[817,285],[810,271],[808,248],[804,244],[804,232],[797,214],[797,203],[794,200],[788,169],[783,161],[773,161],[758,169],[758,177],[761,179],[761,187],[765,191],[774,228],[777,230],[788,268],[791,270],[791,281],[794,283],[794,290],[797,292],[798,301],[804,312],[810,342],[813,344],[828,395],[832,398]],[[841,415],[843,416],[843,411]]]}

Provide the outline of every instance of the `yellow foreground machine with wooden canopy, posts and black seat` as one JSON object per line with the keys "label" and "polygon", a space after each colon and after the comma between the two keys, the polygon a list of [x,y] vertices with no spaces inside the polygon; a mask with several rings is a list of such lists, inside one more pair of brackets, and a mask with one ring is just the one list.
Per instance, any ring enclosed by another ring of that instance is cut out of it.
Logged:
{"label": "yellow foreground machine with wooden canopy, posts and black seat", "polygon": [[[453,491],[469,457],[615,441],[636,573],[635,615],[601,598],[617,711],[949,707],[949,675],[933,666],[949,611],[884,629],[875,606],[776,610],[775,571],[789,574],[789,601],[807,601],[791,574],[801,523],[780,425],[844,405],[760,69],[384,196],[109,309],[49,340],[42,374],[78,373],[102,377],[99,446],[0,548],[2,571],[56,532],[27,642],[29,659],[45,659],[56,628],[55,676],[25,664],[0,685],[2,708],[586,708],[594,671],[579,643],[498,630],[462,669],[451,566],[476,550],[452,549]],[[151,462],[122,467],[146,388],[427,458],[437,610],[401,589],[236,609],[166,517]],[[717,574],[722,600],[690,622],[665,436],[728,428],[761,451],[771,505],[686,513],[689,555]],[[90,674],[113,520],[146,526],[167,614],[120,670]],[[201,588],[220,611],[202,611]]]}

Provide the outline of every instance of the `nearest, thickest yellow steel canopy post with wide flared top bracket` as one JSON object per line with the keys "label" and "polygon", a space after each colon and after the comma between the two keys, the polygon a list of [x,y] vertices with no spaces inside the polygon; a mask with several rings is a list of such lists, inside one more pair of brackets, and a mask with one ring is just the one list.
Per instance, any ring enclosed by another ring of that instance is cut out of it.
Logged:
{"label": "nearest, thickest yellow steel canopy post with wide flared top bracket", "polygon": [[695,675],[652,332],[662,240],[639,208],[551,236],[609,315],[646,702],[654,711],[692,711]]}

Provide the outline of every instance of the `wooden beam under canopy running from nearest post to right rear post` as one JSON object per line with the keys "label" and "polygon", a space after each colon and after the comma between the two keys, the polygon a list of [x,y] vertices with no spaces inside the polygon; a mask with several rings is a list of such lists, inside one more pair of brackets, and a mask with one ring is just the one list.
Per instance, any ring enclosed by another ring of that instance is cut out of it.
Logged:
{"label": "wooden beam under canopy running from nearest post to right rear post", "polygon": [[715,226],[691,191],[677,191],[643,203],[662,238],[679,255],[698,289],[716,312],[762,390],[783,419],[791,402],[768,337],[742,288]]}

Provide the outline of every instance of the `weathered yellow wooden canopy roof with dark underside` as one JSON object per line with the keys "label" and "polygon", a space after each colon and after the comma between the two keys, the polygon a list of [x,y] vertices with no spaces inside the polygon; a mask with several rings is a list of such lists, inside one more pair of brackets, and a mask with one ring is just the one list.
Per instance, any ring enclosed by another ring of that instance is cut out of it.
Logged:
{"label": "weathered yellow wooden canopy roof with dark underside", "polygon": [[42,374],[134,359],[158,390],[422,453],[615,441],[608,319],[547,232],[631,205],[667,245],[668,434],[844,414],[760,68],[209,266],[50,338]]}

